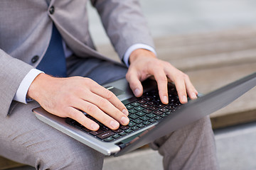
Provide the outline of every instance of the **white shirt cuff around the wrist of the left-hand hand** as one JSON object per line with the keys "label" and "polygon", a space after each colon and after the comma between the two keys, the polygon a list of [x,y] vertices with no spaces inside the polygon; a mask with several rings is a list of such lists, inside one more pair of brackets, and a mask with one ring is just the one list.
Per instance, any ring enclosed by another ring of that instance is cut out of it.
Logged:
{"label": "white shirt cuff around the wrist of the left-hand hand", "polygon": [[38,74],[43,73],[42,71],[38,69],[31,69],[31,71],[26,74],[26,77],[21,81],[21,84],[18,86],[18,90],[16,91],[16,94],[14,96],[14,101],[18,101],[21,103],[27,103],[26,95],[28,93],[28,88],[31,86],[32,82]]}

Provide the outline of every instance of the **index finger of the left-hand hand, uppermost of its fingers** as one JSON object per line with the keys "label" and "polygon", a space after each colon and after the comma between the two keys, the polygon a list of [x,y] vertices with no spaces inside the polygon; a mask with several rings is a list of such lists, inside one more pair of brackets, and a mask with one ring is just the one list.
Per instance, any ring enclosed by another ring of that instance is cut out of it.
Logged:
{"label": "index finger of the left-hand hand, uppermost of its fingers", "polygon": [[119,101],[117,96],[115,96],[112,93],[112,91],[105,89],[105,87],[100,86],[95,81],[92,81],[91,85],[92,86],[90,86],[90,91],[92,91],[92,93],[107,99],[107,101],[110,101],[110,103],[112,103],[114,107],[118,108],[119,111],[122,111],[124,115],[129,114],[129,112],[127,111],[127,108],[124,106],[124,104],[121,101]]}

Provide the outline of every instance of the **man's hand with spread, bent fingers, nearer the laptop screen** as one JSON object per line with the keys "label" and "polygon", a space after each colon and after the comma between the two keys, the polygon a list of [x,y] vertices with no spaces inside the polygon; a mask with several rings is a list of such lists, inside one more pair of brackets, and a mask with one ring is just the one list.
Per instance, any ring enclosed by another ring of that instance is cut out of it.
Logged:
{"label": "man's hand with spread, bent fingers, nearer the laptop screen", "polygon": [[153,52],[144,49],[134,50],[129,57],[129,62],[130,66],[126,78],[135,96],[139,97],[143,94],[141,81],[154,76],[158,84],[162,103],[167,104],[169,102],[167,91],[168,78],[176,85],[181,103],[188,101],[187,94],[191,99],[197,98],[198,92],[193,84],[191,84],[188,76],[169,62],[157,59]]}

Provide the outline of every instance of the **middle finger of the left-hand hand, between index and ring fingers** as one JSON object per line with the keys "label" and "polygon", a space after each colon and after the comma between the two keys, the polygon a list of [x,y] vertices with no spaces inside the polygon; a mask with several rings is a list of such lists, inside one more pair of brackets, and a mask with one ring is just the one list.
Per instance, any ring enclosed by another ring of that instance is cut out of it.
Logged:
{"label": "middle finger of the left-hand hand, between index and ring fingers", "polygon": [[[89,96],[89,94],[85,95]],[[117,120],[122,125],[127,125],[129,123],[129,118],[127,118],[127,115],[124,115],[119,109],[114,107],[110,101],[108,101],[106,98],[102,98],[101,96],[97,96],[96,94],[90,93],[89,98],[83,98],[84,101],[90,102],[100,108],[104,113],[107,113],[107,115],[110,115],[112,118]]]}

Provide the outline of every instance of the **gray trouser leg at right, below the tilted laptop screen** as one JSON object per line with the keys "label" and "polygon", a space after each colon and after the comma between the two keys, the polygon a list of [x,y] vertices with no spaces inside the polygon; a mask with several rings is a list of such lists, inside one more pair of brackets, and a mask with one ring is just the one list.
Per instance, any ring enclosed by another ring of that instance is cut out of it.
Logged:
{"label": "gray trouser leg at right, below the tilted laptop screen", "polygon": [[164,156],[164,169],[219,169],[208,116],[155,140],[151,147]]}

